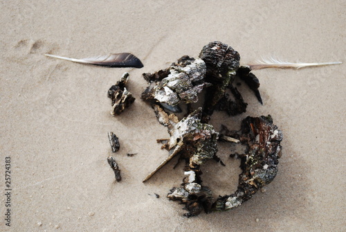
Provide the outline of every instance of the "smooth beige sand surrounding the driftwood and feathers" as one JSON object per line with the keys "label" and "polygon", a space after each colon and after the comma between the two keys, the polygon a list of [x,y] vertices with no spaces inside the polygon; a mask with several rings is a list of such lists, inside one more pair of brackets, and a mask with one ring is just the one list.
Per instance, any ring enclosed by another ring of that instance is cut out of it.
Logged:
{"label": "smooth beige sand surrounding the driftwood and feathers", "polygon": [[[242,84],[248,110],[213,115],[235,129],[271,114],[284,133],[275,180],[233,211],[185,218],[170,202],[183,163],[142,179],[167,152],[151,107],[140,100],[142,73],[219,40],[242,64],[274,55],[291,62],[345,62],[345,1],[2,1],[0,67],[0,231],[345,231],[345,64],[254,71],[262,99]],[[44,53],[89,57],[134,53],[142,69],[107,69]],[[137,98],[109,114],[107,90],[128,71]],[[120,138],[116,183],[107,132]],[[127,153],[137,153],[127,157]],[[239,161],[221,148],[204,184],[217,195],[237,188]],[[11,226],[6,226],[5,157],[11,160]],[[160,195],[156,198],[154,193]]]}

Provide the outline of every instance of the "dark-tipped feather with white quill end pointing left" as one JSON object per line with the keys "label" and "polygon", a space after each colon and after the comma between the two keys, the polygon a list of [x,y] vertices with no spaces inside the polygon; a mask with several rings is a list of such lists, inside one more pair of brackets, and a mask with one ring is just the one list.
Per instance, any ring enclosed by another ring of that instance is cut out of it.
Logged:
{"label": "dark-tipped feather with white quill end pointing left", "polygon": [[69,57],[62,57],[59,55],[45,54],[48,57],[53,57],[61,60],[69,60],[72,62],[78,62],[82,64],[95,64],[108,67],[134,67],[142,68],[143,64],[140,60],[131,53],[113,53],[110,55],[99,55],[95,57],[87,57],[83,59],[74,59]]}

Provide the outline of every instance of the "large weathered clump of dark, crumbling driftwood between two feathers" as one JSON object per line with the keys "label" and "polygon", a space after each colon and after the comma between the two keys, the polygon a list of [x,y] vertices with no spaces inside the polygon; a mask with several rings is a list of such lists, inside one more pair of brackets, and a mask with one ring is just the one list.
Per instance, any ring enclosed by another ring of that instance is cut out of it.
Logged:
{"label": "large weathered clump of dark, crumbling driftwood between two feathers", "polygon": [[[221,42],[210,42],[204,46],[199,58],[187,55],[177,63],[156,73],[144,73],[149,86],[142,93],[142,99],[150,102],[158,121],[167,126],[170,139],[159,139],[170,155],[158,165],[143,181],[147,181],[165,163],[176,155],[185,160],[183,179],[180,187],[172,188],[167,197],[185,204],[190,217],[201,211],[226,211],[245,202],[263,186],[269,184],[277,174],[277,159],[281,156],[282,132],[273,125],[271,116],[247,117],[239,131],[229,131],[226,127],[218,133],[208,124],[215,110],[226,111],[230,116],[246,111],[241,93],[233,86],[239,77],[252,89],[262,103],[259,80],[248,66],[239,66],[237,51]],[[193,109],[205,90],[203,107]],[[233,94],[230,100],[227,90]],[[179,121],[174,113],[180,113],[186,105],[188,113]],[[241,159],[242,174],[235,193],[219,196],[213,201],[212,191],[202,185],[201,166],[209,159],[217,157],[218,141],[241,143],[246,146]]]}

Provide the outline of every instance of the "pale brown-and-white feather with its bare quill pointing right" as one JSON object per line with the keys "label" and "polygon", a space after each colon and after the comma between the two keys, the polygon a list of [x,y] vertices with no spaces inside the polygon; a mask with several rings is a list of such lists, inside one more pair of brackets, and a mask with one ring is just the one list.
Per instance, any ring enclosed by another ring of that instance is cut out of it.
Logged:
{"label": "pale brown-and-white feather with its bare quill pointing right", "polygon": [[283,62],[282,60],[277,60],[273,57],[269,57],[267,59],[262,58],[262,60],[257,60],[257,62],[253,64],[248,64],[251,70],[256,69],[268,69],[268,68],[276,68],[276,69],[300,69],[307,66],[322,66],[322,65],[331,65],[331,64],[342,64],[343,62],[325,62],[325,63],[291,63],[291,62]]}

